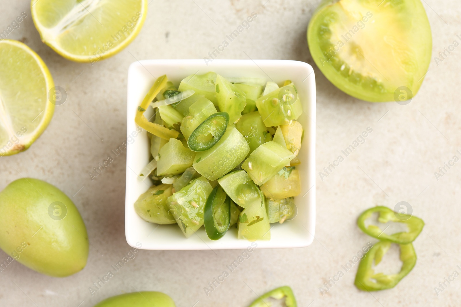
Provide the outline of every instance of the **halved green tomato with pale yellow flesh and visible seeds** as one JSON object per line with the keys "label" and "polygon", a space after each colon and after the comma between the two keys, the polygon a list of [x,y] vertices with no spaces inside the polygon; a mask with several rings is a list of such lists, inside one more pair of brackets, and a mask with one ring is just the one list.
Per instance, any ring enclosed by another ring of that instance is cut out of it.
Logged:
{"label": "halved green tomato with pale yellow flesh and visible seeds", "polygon": [[403,102],[431,61],[431,27],[420,0],[327,0],[307,28],[312,58],[343,92]]}

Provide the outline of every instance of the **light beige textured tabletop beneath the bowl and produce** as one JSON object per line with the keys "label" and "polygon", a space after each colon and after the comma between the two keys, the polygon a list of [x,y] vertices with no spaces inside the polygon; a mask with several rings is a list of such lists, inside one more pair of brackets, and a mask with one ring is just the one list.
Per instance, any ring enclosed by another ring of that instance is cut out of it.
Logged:
{"label": "light beige textured tabletop beneath the bowl and produce", "polygon": [[[91,66],[61,58],[41,43],[28,0],[1,1],[0,29],[27,12],[8,38],[38,52],[68,98],[56,107],[49,127],[28,151],[0,158],[0,189],[21,178],[19,171],[57,185],[69,196],[78,191],[73,200],[91,245],[87,266],[68,278],[47,277],[13,262],[0,272],[0,306],[91,307],[112,295],[158,290],[171,295],[178,307],[192,307],[197,301],[196,307],[245,307],[256,295],[284,284],[293,288],[302,307],[460,306],[461,277],[438,296],[434,287],[453,271],[461,273],[456,267],[461,265],[461,162],[438,181],[434,172],[454,155],[461,156],[456,153],[461,151],[461,47],[438,65],[432,58],[426,80],[410,104],[366,103],[339,91],[313,64],[306,28],[319,1],[269,0],[264,6],[266,0],[247,2],[154,0],[136,40]],[[456,37],[461,35],[461,5],[455,0],[423,4],[432,27],[434,57],[454,40],[461,42]],[[128,66],[136,59],[203,58],[251,12],[257,12],[257,18],[218,58],[293,59],[314,66],[317,173],[372,128],[365,143],[331,174],[324,180],[317,176],[313,244],[303,249],[256,249],[208,296],[204,287],[242,251],[140,250],[92,296],[89,287],[130,250],[124,237],[125,154],[94,181],[89,175],[126,139]],[[353,284],[357,264],[348,272],[342,268],[372,241],[357,228],[356,218],[369,207],[394,208],[400,201],[410,203],[426,222],[414,242],[417,264],[392,290],[359,291]],[[0,251],[0,260],[6,257]],[[344,276],[322,295],[319,287],[326,289],[324,282],[340,270]]]}

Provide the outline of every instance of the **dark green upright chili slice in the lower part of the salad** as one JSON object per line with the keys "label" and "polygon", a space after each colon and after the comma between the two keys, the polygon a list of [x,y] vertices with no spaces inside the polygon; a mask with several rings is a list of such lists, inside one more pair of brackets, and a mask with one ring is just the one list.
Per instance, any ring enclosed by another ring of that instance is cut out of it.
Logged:
{"label": "dark green upright chili slice in the lower part of the salad", "polygon": [[203,211],[205,231],[212,240],[219,240],[231,225],[231,197],[216,185],[207,198]]}

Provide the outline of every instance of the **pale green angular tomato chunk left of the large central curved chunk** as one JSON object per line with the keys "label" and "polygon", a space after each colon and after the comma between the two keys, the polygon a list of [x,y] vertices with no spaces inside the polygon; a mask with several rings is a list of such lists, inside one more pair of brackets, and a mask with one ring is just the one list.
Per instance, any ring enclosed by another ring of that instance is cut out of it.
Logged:
{"label": "pale green angular tomato chunk left of the large central curved chunk", "polygon": [[159,151],[157,161],[157,174],[176,175],[183,173],[192,166],[195,153],[183,146],[178,139],[170,139]]}

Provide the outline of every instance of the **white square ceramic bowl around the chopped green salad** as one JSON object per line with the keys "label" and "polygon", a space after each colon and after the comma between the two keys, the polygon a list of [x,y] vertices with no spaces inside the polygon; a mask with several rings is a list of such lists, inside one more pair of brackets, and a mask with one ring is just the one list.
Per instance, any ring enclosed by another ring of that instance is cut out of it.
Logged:
{"label": "white square ceramic bowl around the chopped green salad", "polygon": [[[313,241],[315,230],[315,77],[312,67],[304,62],[289,60],[142,60],[134,62],[128,70],[126,157],[125,235],[130,246],[141,249],[245,249],[250,242],[237,239],[236,227],[232,227],[217,241],[207,237],[204,227],[196,235],[185,238],[179,227],[156,225],[142,220],[135,212],[134,203],[152,184],[138,177],[149,162],[150,142],[146,131],[140,131],[135,123],[138,105],[154,84],[155,78],[167,75],[175,85],[188,75],[214,71],[224,77],[263,78],[276,83],[291,80],[295,83],[303,106],[298,118],[305,129],[299,159],[301,165],[301,194],[295,197],[297,215],[284,224],[275,223],[271,228],[271,240],[257,241],[258,248],[305,247]],[[152,112],[152,108],[149,108]],[[148,112],[146,111],[146,112]],[[153,114],[153,113],[151,113]],[[137,243],[137,244],[136,244]]]}

